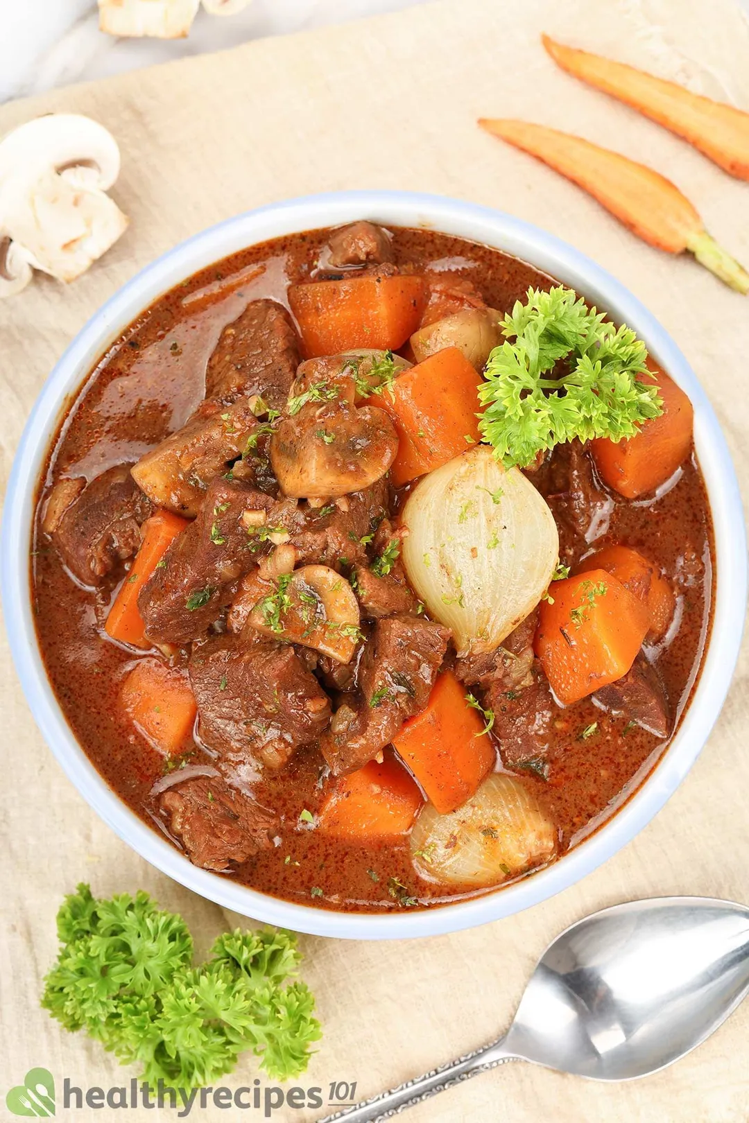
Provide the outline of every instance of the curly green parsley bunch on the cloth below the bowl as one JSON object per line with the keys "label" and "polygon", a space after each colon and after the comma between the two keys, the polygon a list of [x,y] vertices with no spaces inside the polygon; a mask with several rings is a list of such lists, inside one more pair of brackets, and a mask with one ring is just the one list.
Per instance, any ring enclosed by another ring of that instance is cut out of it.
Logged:
{"label": "curly green parsley bunch on the cloth below the bowl", "polygon": [[183,919],[146,893],[98,901],[88,885],[57,913],[57,962],[42,1005],[74,1032],[85,1030],[140,1079],[185,1092],[230,1072],[252,1050],[273,1080],[298,1077],[320,1038],[291,932],[225,932],[211,958],[191,966]]}

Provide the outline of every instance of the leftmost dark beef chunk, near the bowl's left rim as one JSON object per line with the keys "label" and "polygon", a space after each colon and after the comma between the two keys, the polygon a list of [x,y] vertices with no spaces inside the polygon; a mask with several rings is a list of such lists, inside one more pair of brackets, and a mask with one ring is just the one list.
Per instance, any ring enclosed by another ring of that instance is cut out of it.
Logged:
{"label": "leftmost dark beef chunk, near the bowl's left rim", "polygon": [[[55,494],[55,489],[62,491]],[[118,562],[137,553],[140,523],[150,514],[150,503],[133,480],[129,464],[102,472],[66,506],[63,500],[73,495],[71,481],[58,481],[55,489],[47,505],[57,508],[47,522],[52,540],[81,584],[99,585]]]}

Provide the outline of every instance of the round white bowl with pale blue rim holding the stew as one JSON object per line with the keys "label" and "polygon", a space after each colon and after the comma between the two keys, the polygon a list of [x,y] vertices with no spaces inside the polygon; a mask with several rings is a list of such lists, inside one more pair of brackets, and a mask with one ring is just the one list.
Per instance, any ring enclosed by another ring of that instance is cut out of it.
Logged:
{"label": "round white bowl with pale blue rim holding the stew", "polygon": [[[424,227],[524,258],[625,321],[689,395],[694,439],[715,529],[715,614],[700,683],[676,737],[640,789],[597,832],[548,869],[459,904],[377,916],[291,904],[195,866],[137,818],[104,783],[73,737],[47,682],[30,608],[28,550],[37,480],[57,424],[84,377],[127,325],[198,270],[281,235],[356,218]],[[239,214],[197,235],[147,266],[86,323],[49,375],[13,464],[3,518],[2,596],[10,645],[31,712],[68,778],[121,839],[163,873],[235,912],[317,935],[391,939],[435,935],[508,916],[573,885],[632,839],[663,807],[694,763],[725,697],[741,640],[747,595],[739,489],[715,414],[688,363],[627,289],[572,246],[509,214],[438,195],[349,191],[312,195]]]}

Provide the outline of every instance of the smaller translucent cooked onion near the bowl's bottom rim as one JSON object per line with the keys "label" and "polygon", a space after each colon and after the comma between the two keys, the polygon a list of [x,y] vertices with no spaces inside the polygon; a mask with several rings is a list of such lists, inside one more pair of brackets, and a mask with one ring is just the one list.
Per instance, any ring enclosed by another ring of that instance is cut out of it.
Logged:
{"label": "smaller translucent cooked onion near the bowl's bottom rim", "polygon": [[411,857],[427,878],[500,885],[550,861],[554,824],[519,779],[493,773],[462,807],[440,815],[428,803],[411,831]]}

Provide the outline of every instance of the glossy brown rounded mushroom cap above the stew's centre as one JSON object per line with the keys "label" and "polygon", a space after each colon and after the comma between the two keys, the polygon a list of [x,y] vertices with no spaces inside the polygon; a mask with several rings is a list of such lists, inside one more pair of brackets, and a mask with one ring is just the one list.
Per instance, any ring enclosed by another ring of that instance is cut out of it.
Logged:
{"label": "glossy brown rounded mushroom cap above the stew's centre", "polygon": [[271,437],[271,465],[286,495],[335,499],[364,491],[390,468],[398,436],[387,413],[336,402],[309,402]]}

